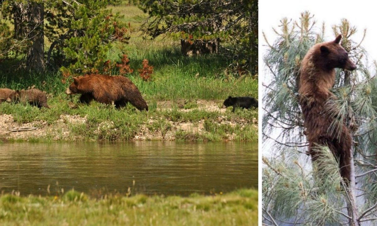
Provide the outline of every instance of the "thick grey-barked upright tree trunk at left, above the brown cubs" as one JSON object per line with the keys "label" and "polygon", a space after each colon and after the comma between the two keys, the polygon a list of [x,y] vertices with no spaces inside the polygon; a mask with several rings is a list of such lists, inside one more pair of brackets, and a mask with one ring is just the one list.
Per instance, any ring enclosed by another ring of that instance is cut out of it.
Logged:
{"label": "thick grey-barked upright tree trunk at left, above the brown cubs", "polygon": [[32,2],[29,6],[29,37],[32,45],[26,61],[28,70],[42,72],[44,70],[44,32],[43,32],[43,3]]}

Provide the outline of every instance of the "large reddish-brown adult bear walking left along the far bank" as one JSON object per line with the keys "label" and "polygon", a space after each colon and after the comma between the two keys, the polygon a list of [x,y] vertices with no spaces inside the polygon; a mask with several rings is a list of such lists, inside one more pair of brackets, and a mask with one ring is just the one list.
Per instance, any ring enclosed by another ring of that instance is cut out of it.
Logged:
{"label": "large reddish-brown adult bear walking left along the far bank", "polygon": [[103,104],[124,107],[130,102],[139,110],[148,111],[147,102],[132,81],[124,76],[85,75],[73,78],[74,82],[66,90],[67,95],[80,93],[80,102],[89,103],[93,99]]}

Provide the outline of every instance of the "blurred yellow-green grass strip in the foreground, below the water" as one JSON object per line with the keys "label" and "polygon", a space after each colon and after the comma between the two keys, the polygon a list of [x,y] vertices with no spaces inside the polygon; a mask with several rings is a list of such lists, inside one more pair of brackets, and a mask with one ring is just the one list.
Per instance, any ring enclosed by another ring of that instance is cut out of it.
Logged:
{"label": "blurred yellow-green grass strip in the foreground, below the water", "polygon": [[1,225],[257,225],[257,191],[213,196],[0,197]]}

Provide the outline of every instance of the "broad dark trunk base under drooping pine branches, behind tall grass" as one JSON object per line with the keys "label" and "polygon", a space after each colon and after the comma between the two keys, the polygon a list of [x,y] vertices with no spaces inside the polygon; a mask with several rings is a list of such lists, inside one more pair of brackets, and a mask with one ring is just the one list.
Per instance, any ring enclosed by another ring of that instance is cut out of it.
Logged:
{"label": "broad dark trunk base under drooping pine branches, behind tall grass", "polygon": [[219,38],[213,40],[195,40],[194,42],[181,39],[181,52],[184,56],[218,53]]}

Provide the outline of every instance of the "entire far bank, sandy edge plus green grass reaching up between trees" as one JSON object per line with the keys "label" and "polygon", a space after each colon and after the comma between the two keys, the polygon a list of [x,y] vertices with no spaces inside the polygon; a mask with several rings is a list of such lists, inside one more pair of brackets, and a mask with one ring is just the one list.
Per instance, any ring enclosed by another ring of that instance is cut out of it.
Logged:
{"label": "entire far bank, sandy edge plus green grass reaching up between trees", "polygon": [[[149,112],[132,106],[115,110],[92,102],[77,104],[64,90],[72,82],[63,82],[60,72],[32,74],[16,70],[14,62],[2,62],[0,87],[27,89],[35,86],[48,94],[51,109],[0,104],[2,140],[245,140],[257,141],[257,110],[221,109],[231,96],[258,95],[255,75],[231,73],[224,56],[181,55],[178,40],[159,37],[144,40],[139,32],[146,15],[136,6],[112,6],[125,15],[132,33],[129,44],[114,44],[107,56],[120,61],[126,53],[134,72],[128,77],[139,88]],[[143,81],[138,70],[143,59],[153,66],[151,81]],[[114,72],[115,75],[117,72]],[[34,131],[8,133],[11,128],[35,127]]]}

